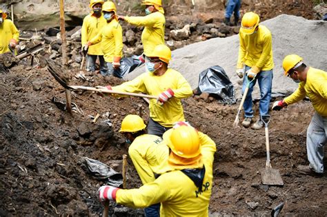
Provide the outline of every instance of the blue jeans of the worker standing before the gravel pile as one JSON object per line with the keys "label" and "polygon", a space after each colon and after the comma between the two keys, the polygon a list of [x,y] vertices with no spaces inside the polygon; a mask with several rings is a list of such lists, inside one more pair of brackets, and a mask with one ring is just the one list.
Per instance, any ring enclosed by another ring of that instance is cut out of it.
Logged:
{"label": "blue jeans of the worker standing before the gravel pile", "polygon": [[[246,71],[250,70],[250,67],[246,65]],[[244,94],[244,90],[246,89],[246,85],[250,81],[246,81],[246,74],[244,74],[243,79],[243,87],[242,87],[242,95]],[[269,103],[271,99],[271,86],[273,84],[273,70],[267,71],[260,71],[255,80],[250,83],[250,87],[248,88],[248,94],[246,95],[246,99],[243,104],[244,113],[247,118],[253,117],[253,110],[252,110],[252,92],[255,83],[259,83],[260,88],[260,103],[259,103],[259,112],[260,116],[268,114],[269,110]]]}

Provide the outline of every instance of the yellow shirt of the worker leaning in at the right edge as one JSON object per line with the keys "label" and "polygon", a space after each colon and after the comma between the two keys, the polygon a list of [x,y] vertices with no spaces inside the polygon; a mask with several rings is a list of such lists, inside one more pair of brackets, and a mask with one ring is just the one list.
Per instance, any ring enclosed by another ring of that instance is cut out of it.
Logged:
{"label": "yellow shirt of the worker leaning in at the right edge", "polygon": [[306,75],[306,82],[299,83],[297,90],[286,97],[284,102],[290,105],[306,96],[313,103],[318,114],[327,117],[327,72],[310,67]]}

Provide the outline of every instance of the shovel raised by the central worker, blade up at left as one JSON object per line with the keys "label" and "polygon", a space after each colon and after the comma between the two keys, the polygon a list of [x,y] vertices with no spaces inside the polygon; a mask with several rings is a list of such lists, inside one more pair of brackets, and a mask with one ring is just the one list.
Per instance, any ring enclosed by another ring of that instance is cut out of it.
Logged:
{"label": "shovel raised by the central worker, blade up at left", "polygon": [[59,69],[54,66],[53,63],[46,60],[48,63],[48,71],[52,76],[54,76],[54,79],[56,79],[63,87],[65,87],[66,90],[90,90],[95,92],[102,92],[102,93],[108,93],[108,94],[119,94],[119,95],[126,95],[126,96],[137,96],[137,97],[144,97],[148,99],[158,99],[157,96],[152,96],[148,94],[135,94],[130,92],[121,92],[121,91],[115,91],[115,90],[108,90],[107,88],[96,88],[96,87],[86,87],[86,86],[80,86],[80,85],[68,85],[68,80],[61,76],[59,74]]}

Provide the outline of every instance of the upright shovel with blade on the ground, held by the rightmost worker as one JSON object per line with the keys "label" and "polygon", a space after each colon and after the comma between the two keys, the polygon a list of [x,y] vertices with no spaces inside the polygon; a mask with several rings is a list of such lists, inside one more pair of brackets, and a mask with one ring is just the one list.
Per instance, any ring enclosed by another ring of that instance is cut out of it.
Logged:
{"label": "upright shovel with blade on the ground, held by the rightmost worker", "polygon": [[269,132],[268,123],[270,122],[270,115],[261,116],[261,121],[264,122],[264,131],[266,134],[266,168],[260,169],[261,180],[264,185],[284,185],[281,179],[281,174],[279,174],[278,169],[273,169],[270,163],[270,147],[269,147]]}

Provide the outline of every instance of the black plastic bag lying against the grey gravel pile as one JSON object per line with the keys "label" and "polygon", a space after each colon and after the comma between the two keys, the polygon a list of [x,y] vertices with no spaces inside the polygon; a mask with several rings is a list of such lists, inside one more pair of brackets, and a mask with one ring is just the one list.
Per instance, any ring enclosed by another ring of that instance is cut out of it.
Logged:
{"label": "black plastic bag lying against the grey gravel pile", "polygon": [[212,94],[223,103],[236,103],[234,86],[219,65],[212,66],[200,73],[198,90]]}

